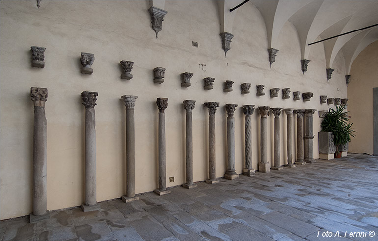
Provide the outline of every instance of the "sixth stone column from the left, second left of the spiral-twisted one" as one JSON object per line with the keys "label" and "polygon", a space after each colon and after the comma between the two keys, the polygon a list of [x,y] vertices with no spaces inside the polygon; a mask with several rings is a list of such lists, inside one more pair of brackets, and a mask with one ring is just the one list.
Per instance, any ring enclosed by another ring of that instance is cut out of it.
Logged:
{"label": "sixth stone column from the left, second left of the spiral-twisted one", "polygon": [[215,173],[215,112],[219,107],[219,102],[205,102],[205,107],[209,108],[209,179],[206,183],[219,183]]}

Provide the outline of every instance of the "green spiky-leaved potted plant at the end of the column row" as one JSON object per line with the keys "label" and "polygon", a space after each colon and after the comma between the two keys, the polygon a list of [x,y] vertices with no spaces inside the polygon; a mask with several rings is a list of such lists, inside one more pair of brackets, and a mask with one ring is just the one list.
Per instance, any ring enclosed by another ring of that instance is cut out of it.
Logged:
{"label": "green spiky-leaved potted plant at the end of the column row", "polygon": [[340,145],[351,142],[351,136],[355,137],[355,131],[352,130],[353,123],[349,122],[349,111],[345,111],[345,105],[336,106],[336,110],[329,108],[328,113],[324,115],[321,123],[321,131],[329,131],[333,134],[333,142],[336,147],[336,154]]}

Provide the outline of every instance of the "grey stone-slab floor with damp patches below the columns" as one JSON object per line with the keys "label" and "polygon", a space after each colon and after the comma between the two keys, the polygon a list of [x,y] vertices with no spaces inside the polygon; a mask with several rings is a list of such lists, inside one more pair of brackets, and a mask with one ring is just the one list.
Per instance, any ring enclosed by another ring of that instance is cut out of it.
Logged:
{"label": "grey stone-slab floor with damp patches below the columns", "polygon": [[170,189],[101,202],[100,211],[51,211],[34,224],[3,220],[1,240],[377,240],[377,157],[369,155]]}

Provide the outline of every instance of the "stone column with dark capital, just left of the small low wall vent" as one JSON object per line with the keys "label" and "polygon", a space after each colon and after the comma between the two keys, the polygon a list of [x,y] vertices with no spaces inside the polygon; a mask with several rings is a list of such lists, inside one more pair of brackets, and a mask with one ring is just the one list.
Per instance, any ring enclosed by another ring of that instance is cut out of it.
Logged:
{"label": "stone column with dark capital, just left of the small low wall vent", "polygon": [[159,188],[154,192],[158,195],[168,194],[171,191],[166,187],[166,163],[165,163],[165,109],[168,107],[167,98],[157,98],[156,104],[159,108]]}

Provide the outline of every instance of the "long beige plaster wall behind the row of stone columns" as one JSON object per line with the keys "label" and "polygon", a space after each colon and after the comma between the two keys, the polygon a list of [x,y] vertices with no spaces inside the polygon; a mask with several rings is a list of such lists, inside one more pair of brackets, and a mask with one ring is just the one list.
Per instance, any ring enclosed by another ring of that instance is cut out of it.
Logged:
{"label": "long beige plaster wall behind the row of stone columns", "polygon": [[[226,170],[226,103],[235,112],[236,171],[244,167],[242,105],[327,110],[319,95],[347,97],[342,54],[327,82],[324,45],[312,45],[308,71],[302,74],[297,30],[286,22],[274,48],[270,68],[266,28],[260,12],[250,4],[234,19],[231,50],[224,56],[219,37],[216,1],[166,1],[168,14],[158,40],[151,28],[148,1],[1,1],[1,219],[32,212],[33,103],[30,87],[48,88],[47,200],[48,210],[84,202],[84,106],[81,92],[98,92],[96,110],[97,201],[125,194],[125,106],[122,95],[137,95],[135,103],[135,192],[158,186],[158,108],[166,97],[167,179],[185,182],[185,110],[183,100],[196,100],[193,110],[194,181],[208,175],[208,110],[204,102],[220,102],[216,111],[216,176]],[[191,11],[187,11],[191,9]],[[251,12],[253,14],[251,14]],[[192,41],[199,44],[192,47]],[[30,47],[45,47],[45,68],[31,67]],[[80,53],[95,55],[92,75],[80,73]],[[134,62],[131,80],[120,79],[119,62]],[[201,64],[206,64],[202,69]],[[155,67],[166,68],[165,82],[153,83]],[[180,86],[180,73],[194,73],[191,86]],[[203,89],[203,78],[215,78],[213,90]],[[223,92],[233,80],[234,91]],[[252,83],[250,94],[240,84]],[[256,96],[256,85],[265,96]],[[353,84],[353,81],[351,82]],[[313,92],[309,102],[270,98],[278,87]],[[281,164],[286,162],[286,115],[281,114]],[[268,160],[273,162],[274,115],[268,117]],[[293,118],[296,129],[297,118]],[[320,119],[314,114],[314,158],[318,158]],[[260,155],[258,110],[252,117],[253,168]],[[293,133],[294,143],[297,143]],[[293,147],[293,153],[296,153]]]}

